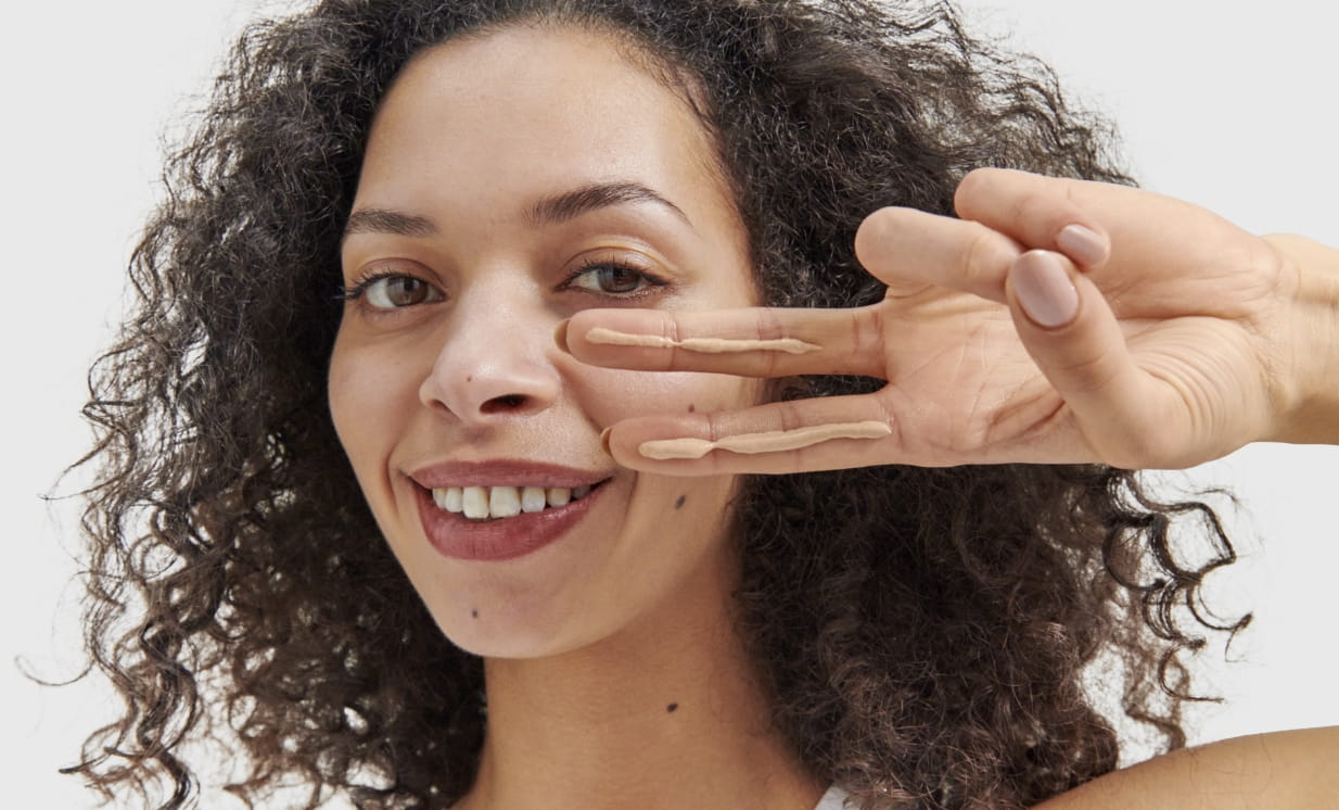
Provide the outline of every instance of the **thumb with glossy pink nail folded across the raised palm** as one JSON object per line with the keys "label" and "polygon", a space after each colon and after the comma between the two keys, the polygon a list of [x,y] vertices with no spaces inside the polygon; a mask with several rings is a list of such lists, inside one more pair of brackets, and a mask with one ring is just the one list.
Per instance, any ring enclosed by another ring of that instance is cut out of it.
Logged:
{"label": "thumb with glossy pink nail folded across the raised palm", "polygon": [[[1164,466],[1184,434],[1184,408],[1141,371],[1111,307],[1060,253],[1028,250],[1010,268],[1014,325],[1042,374],[1070,407],[1091,451],[1126,469]],[[1174,463],[1173,463],[1174,466]]]}

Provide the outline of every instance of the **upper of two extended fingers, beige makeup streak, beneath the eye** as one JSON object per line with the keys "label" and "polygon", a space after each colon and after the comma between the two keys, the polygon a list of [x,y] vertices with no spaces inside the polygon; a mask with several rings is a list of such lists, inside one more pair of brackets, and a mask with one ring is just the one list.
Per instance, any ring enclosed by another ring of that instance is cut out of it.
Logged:
{"label": "upper of two extended fingers, beige makeup streak, beneath the eye", "polygon": [[882,321],[873,307],[586,309],[560,324],[556,340],[582,363],[615,368],[755,378],[886,374]]}

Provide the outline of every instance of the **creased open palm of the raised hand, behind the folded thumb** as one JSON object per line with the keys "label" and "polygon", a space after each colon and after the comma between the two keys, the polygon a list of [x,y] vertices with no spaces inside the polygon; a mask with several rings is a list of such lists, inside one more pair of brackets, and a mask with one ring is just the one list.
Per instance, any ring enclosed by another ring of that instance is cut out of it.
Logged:
{"label": "creased open palm of the raised hand, behind the folded thumb", "polygon": [[[1103,276],[1119,277],[1119,268],[1095,273],[1099,287]],[[1149,403],[1158,408],[1149,420],[1157,434],[1141,439],[1168,450],[1202,446],[1212,455],[1220,440],[1214,434],[1232,427],[1229,414],[1263,410],[1263,382],[1249,386],[1243,376],[1259,366],[1251,331],[1265,315],[1248,299],[1264,297],[1228,289],[1221,278],[1164,277],[1127,287],[1109,301],[1137,364],[1162,390]],[[1168,301],[1196,307],[1176,312]],[[1113,436],[1085,432],[1019,340],[1004,305],[928,288],[889,296],[877,309],[889,335],[888,386],[877,396],[901,426],[905,451],[921,463],[1008,461],[1023,444],[1054,449],[1052,461],[1119,461],[1103,458]]]}

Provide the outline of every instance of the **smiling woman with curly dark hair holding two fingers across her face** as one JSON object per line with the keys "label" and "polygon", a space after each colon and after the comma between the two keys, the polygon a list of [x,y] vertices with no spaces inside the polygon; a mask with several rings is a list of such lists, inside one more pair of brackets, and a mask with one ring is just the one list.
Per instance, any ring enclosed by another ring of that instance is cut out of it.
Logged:
{"label": "smiling woman with curly dark hair holding two fingers across her face", "polygon": [[1103,661],[1177,746],[1232,549],[1118,467],[1332,440],[1334,253],[967,174],[1123,179],[943,9],[497,5],[256,31],[178,159],[90,406],[80,770],[179,803],[213,673],[242,789],[367,806],[1026,806],[1115,766]]}

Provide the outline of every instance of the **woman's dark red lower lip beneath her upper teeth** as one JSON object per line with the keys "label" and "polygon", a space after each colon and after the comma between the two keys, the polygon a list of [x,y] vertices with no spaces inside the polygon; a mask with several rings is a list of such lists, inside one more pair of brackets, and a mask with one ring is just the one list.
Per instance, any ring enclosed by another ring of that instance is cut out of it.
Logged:
{"label": "woman's dark red lower lip beneath her upper teeth", "polygon": [[590,511],[604,491],[597,486],[580,501],[549,506],[544,511],[522,511],[514,518],[471,521],[462,514],[439,509],[432,493],[414,486],[419,519],[427,541],[443,557],[498,562],[514,560],[557,542]]}

